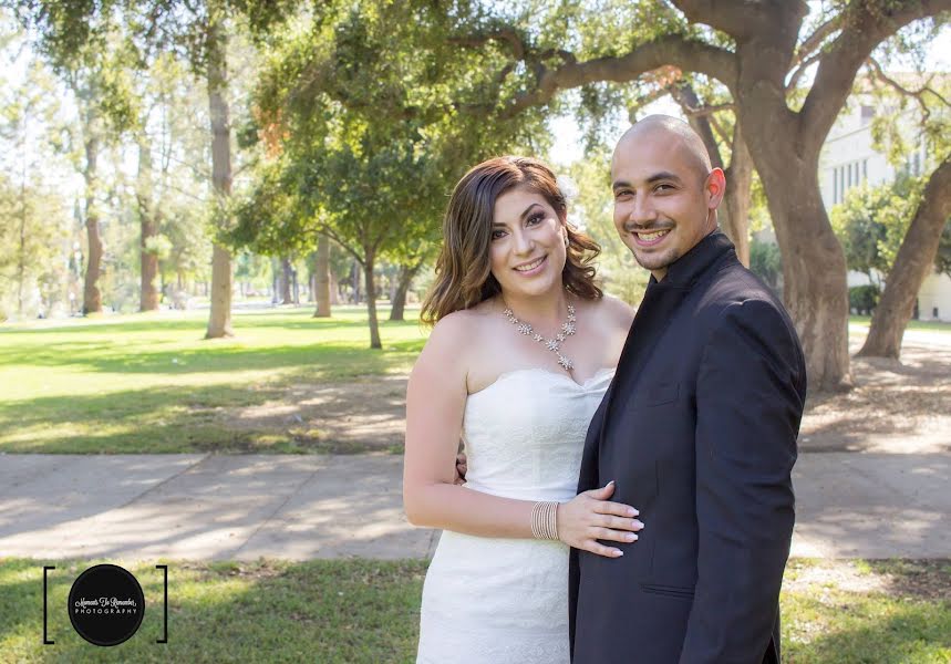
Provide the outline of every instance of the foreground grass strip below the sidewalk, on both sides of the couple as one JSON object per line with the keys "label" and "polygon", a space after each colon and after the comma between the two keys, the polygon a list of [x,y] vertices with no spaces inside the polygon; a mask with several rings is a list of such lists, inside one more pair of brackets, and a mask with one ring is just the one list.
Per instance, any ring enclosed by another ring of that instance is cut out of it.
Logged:
{"label": "foreground grass strip below the sidewalk, on both sides of the couple", "polygon": [[[161,561],[158,561],[161,562]],[[82,566],[50,572],[42,645],[42,562],[0,559],[0,662],[412,662],[425,562],[168,562],[168,643],[162,575],[131,566],[146,596],[138,633],[110,649],[73,632],[63,609]],[[831,567],[830,567],[831,566]],[[846,567],[844,582],[836,568]],[[833,570],[830,573],[829,570]],[[805,577],[815,578],[803,583]],[[856,584],[859,588],[854,588]],[[865,584],[865,589],[862,589]],[[850,588],[852,587],[852,588]],[[949,561],[793,560],[782,598],[789,664],[951,660]],[[632,652],[637,644],[631,644]]]}

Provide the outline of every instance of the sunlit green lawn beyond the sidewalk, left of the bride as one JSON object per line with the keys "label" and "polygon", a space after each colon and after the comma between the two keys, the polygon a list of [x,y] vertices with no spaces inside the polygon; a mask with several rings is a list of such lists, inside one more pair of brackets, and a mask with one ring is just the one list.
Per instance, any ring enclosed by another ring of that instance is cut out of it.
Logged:
{"label": "sunlit green lawn beyond the sidewalk, left of the bride", "polygon": [[273,432],[223,424],[216,408],[285,398],[297,384],[405,374],[424,342],[407,312],[370,350],[363,308],[235,315],[204,341],[207,312],[38,321],[0,328],[0,452],[301,452]]}

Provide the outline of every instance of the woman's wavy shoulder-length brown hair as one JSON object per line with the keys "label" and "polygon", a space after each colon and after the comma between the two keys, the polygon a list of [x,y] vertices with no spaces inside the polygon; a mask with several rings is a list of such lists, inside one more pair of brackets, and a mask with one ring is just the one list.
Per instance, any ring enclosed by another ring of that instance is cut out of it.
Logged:
{"label": "woman's wavy shoulder-length brown hair", "polygon": [[502,290],[489,262],[492,220],[495,201],[515,187],[541,195],[568,230],[568,257],[561,272],[565,288],[586,300],[602,295],[590,264],[601,247],[567,224],[568,206],[551,169],[528,157],[495,157],[466,173],[453,190],[443,218],[436,280],[423,301],[421,321],[434,325],[443,317],[475,307]]}

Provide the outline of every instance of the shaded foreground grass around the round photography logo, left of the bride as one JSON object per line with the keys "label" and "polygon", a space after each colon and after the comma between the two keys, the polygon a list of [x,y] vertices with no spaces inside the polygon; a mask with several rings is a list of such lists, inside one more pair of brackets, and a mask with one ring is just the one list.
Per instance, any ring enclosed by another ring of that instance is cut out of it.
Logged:
{"label": "shaded foreground grass around the round photography logo, left of the bride", "polygon": [[[92,561],[54,578],[56,645],[41,645],[42,566],[35,582],[3,583],[23,604],[0,614],[0,644],[13,661],[87,662],[411,662],[415,653],[424,564],[370,560],[288,563],[168,562],[168,643],[162,635],[159,561],[128,566],[143,585],[146,611],[125,643],[101,649],[82,641],[64,610],[69,584]],[[32,561],[0,562],[32,567]],[[55,562],[68,568],[68,561]],[[53,572],[56,574],[60,570]],[[52,604],[51,604],[52,606]]]}

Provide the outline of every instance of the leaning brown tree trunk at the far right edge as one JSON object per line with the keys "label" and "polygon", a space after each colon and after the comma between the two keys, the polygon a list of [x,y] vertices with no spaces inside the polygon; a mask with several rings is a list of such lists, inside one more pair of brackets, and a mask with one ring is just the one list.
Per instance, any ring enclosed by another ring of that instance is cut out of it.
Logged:
{"label": "leaning brown tree trunk at the far right edge", "polygon": [[924,196],[898,249],[895,264],[885,282],[885,291],[871,317],[868,336],[858,355],[899,357],[905,328],[914,310],[921,283],[934,269],[934,256],[949,216],[951,155],[944,157],[928,179]]}

